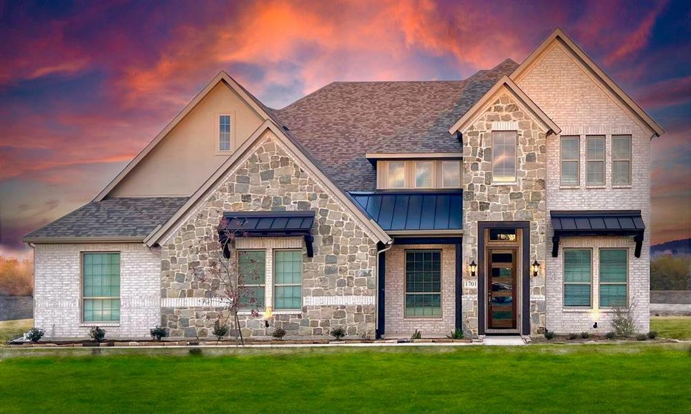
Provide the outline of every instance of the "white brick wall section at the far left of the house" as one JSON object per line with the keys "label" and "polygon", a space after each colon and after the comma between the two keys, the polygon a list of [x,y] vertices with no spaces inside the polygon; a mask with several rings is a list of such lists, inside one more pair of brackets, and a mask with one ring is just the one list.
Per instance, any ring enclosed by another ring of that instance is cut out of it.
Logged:
{"label": "white brick wall section at the far left of the house", "polygon": [[[120,252],[120,322],[82,323],[82,252]],[[106,339],[140,339],[160,323],[160,256],[142,243],[37,244],[34,263],[34,326],[46,338],[101,326]]]}

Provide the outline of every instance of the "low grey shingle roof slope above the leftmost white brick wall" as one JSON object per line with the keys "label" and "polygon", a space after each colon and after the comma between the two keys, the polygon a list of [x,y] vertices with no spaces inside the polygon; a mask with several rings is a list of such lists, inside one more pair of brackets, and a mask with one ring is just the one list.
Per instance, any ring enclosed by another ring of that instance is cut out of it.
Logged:
{"label": "low grey shingle roof slope above the leftmost white brick wall", "polygon": [[35,238],[144,237],[164,224],[187,197],[106,198],[93,201],[26,236]]}

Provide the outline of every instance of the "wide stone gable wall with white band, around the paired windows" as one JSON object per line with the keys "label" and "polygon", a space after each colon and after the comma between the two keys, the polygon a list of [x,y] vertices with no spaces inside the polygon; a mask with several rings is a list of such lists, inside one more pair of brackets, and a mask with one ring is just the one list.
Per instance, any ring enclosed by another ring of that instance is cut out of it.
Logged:
{"label": "wide stone gable wall with white band, around the paired windows", "polygon": [[171,336],[208,337],[218,319],[220,309],[202,303],[212,296],[213,281],[198,283],[191,274],[192,267],[208,268],[209,256],[215,257],[202,237],[215,234],[224,211],[267,210],[314,211],[314,257],[303,249],[302,309],[275,312],[269,328],[243,314],[243,335],[265,337],[280,326],[288,336],[320,337],[343,326],[349,336],[374,338],[377,245],[272,133],[162,243],[162,324]]}

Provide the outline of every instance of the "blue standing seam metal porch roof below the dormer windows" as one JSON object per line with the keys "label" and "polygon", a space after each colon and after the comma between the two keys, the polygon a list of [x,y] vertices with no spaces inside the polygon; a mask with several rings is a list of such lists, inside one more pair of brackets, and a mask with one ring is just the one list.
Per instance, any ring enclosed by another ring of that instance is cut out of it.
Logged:
{"label": "blue standing seam metal porch roof below the dormer windows", "polygon": [[357,204],[386,232],[462,230],[462,191],[351,192]]}

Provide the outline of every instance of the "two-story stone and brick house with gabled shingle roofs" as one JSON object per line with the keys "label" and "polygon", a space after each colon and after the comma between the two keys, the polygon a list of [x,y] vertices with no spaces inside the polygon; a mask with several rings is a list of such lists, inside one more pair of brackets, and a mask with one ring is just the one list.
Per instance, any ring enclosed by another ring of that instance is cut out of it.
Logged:
{"label": "two-story stone and brick house with gabled shingle roofs", "polygon": [[[468,79],[334,82],[269,109],[225,72],[91,203],[35,232],[48,337],[207,337],[220,218],[247,336],[648,330],[650,142],[663,134],[561,30]],[[270,314],[270,317],[268,316]]]}

